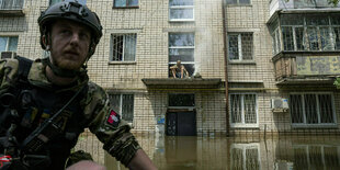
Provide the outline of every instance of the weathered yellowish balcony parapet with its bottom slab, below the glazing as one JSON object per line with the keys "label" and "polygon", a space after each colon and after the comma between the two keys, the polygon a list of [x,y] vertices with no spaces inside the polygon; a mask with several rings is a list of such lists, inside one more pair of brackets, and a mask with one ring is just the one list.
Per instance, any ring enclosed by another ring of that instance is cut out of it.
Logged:
{"label": "weathered yellowish balcony parapet with its bottom slab, below the glazing", "polygon": [[340,75],[339,53],[282,52],[273,57],[276,84],[331,86]]}

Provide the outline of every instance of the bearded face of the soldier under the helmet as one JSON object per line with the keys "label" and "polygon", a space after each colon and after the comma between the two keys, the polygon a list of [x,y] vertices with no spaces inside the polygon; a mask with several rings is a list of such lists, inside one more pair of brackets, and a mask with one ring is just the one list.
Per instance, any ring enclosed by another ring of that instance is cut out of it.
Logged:
{"label": "bearded face of the soldier under the helmet", "polygon": [[78,70],[89,53],[90,30],[68,20],[56,21],[52,26],[52,63],[59,68]]}

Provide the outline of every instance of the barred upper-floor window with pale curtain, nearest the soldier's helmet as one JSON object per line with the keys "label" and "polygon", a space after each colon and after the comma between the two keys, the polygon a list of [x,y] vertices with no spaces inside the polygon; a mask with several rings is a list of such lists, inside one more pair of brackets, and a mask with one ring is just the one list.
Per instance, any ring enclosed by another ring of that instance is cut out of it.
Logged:
{"label": "barred upper-floor window with pale curtain, nearest the soldier's helmet", "polygon": [[112,34],[110,61],[135,61],[137,34]]}

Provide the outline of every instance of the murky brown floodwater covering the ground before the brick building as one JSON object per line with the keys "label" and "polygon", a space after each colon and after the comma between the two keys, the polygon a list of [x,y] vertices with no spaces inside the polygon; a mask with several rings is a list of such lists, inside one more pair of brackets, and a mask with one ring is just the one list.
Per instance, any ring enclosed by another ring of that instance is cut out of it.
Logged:
{"label": "murky brown floodwater covering the ground before the brick building", "polygon": [[[340,169],[340,136],[136,137],[160,170]],[[95,161],[110,170],[126,169],[106,152],[101,154],[100,145],[97,147],[99,151],[92,149]]]}

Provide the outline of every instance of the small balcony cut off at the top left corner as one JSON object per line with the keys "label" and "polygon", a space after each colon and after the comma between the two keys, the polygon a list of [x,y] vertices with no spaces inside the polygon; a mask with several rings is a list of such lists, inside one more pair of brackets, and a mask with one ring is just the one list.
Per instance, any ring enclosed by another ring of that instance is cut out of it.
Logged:
{"label": "small balcony cut off at the top left corner", "polygon": [[24,0],[0,0],[0,15],[24,15]]}

